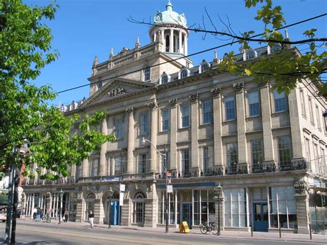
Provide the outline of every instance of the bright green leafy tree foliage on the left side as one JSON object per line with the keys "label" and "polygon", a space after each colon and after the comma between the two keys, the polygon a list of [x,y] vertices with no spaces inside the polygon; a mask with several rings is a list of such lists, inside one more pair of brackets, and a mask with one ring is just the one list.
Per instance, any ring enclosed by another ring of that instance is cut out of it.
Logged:
{"label": "bright green leafy tree foliage on the left side", "polygon": [[[37,163],[37,172],[46,168],[53,172],[43,178],[67,176],[68,168],[80,164],[101,144],[112,141],[97,126],[106,117],[97,112],[92,117],[66,117],[47,101],[55,94],[50,86],[32,83],[41,69],[59,56],[52,50],[51,30],[43,23],[54,19],[58,6],[30,7],[19,0],[0,0],[0,172],[7,172],[12,163],[19,168]],[[3,24],[4,23],[4,24]],[[70,130],[78,125],[77,134]],[[91,128],[91,130],[88,130]],[[92,129],[93,128],[93,129]],[[19,153],[21,146],[26,153]],[[14,154],[13,154],[14,153]],[[54,174],[52,174],[54,173]]]}

